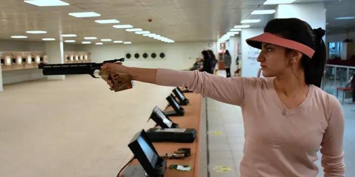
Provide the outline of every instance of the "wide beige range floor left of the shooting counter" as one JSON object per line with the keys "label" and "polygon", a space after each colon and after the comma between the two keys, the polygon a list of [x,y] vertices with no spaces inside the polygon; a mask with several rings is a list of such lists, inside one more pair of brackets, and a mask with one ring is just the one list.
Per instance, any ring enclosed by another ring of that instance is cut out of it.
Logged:
{"label": "wide beige range floor left of the shooting counter", "polygon": [[[127,144],[170,87],[135,82],[110,91],[101,79],[67,76],[4,86],[0,92],[0,175],[116,176],[132,156]],[[135,96],[132,96],[135,95]]]}

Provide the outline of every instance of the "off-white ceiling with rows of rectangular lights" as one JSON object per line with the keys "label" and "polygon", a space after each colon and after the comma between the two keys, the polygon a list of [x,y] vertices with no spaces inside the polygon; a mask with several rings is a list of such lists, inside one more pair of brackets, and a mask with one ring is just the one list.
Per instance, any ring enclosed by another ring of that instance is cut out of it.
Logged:
{"label": "off-white ceiling with rows of rectangular lights", "polygon": [[[42,38],[60,39],[61,34],[76,34],[77,43],[84,37],[138,42],[160,42],[124,29],[115,24],[98,24],[95,20],[116,19],[175,41],[216,41],[243,19],[259,18],[251,27],[262,28],[274,15],[250,15],[256,9],[275,9],[262,5],[265,0],[63,0],[70,6],[38,7],[22,0],[0,0],[0,39],[26,35],[28,41]],[[329,33],[355,28],[355,20],[333,20],[339,16],[355,16],[355,0],[296,0],[295,3],[325,2]],[[96,12],[101,17],[75,18],[68,13]],[[152,19],[152,22],[148,22]],[[341,30],[340,30],[341,29]],[[47,34],[27,34],[28,30],[44,30]],[[23,39],[21,39],[23,40]],[[105,43],[105,42],[104,42]]]}

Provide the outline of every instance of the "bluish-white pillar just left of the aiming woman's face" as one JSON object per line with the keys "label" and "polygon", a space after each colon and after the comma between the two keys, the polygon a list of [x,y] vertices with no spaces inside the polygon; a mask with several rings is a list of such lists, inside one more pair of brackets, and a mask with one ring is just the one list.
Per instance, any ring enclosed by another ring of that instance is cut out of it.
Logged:
{"label": "bluish-white pillar just left of the aiming woman's face", "polygon": [[242,45],[242,76],[243,77],[256,77],[260,68],[260,64],[256,61],[259,49],[249,46],[245,40],[263,33],[261,28],[248,28],[241,32],[241,45]]}

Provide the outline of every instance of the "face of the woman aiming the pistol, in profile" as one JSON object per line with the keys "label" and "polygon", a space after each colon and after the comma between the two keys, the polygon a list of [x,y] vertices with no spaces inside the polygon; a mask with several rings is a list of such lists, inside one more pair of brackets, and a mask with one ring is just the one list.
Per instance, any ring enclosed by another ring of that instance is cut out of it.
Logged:
{"label": "face of the woman aiming the pistol, in profile", "polygon": [[285,54],[285,47],[270,43],[261,43],[262,49],[257,57],[264,77],[283,75],[291,64]]}

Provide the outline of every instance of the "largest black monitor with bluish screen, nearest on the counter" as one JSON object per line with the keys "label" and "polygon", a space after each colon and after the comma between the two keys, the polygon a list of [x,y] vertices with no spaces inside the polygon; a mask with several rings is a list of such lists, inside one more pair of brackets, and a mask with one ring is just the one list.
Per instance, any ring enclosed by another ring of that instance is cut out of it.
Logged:
{"label": "largest black monitor with bluish screen, nearest on the counter", "polygon": [[144,130],[139,131],[132,138],[128,147],[149,176],[162,176],[166,168],[166,161],[159,157],[158,152],[149,141]]}

